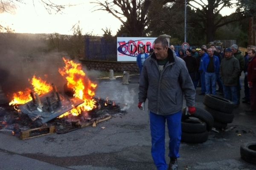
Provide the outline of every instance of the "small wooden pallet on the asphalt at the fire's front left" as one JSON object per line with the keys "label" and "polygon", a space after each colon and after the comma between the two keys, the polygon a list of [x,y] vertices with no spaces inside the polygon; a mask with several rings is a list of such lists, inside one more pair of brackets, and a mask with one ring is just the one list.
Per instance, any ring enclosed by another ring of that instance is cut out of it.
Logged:
{"label": "small wooden pallet on the asphalt at the fire's front left", "polygon": [[20,132],[20,139],[31,139],[39,136],[49,135],[55,132],[55,126],[38,127]]}

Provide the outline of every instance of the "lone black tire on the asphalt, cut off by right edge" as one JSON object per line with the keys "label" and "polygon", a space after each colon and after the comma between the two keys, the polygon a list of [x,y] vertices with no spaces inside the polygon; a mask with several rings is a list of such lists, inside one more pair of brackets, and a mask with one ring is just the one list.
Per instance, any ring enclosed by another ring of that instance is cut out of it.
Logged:
{"label": "lone black tire on the asphalt, cut off by right edge", "polygon": [[256,164],[256,142],[242,144],[240,147],[240,155],[244,161]]}

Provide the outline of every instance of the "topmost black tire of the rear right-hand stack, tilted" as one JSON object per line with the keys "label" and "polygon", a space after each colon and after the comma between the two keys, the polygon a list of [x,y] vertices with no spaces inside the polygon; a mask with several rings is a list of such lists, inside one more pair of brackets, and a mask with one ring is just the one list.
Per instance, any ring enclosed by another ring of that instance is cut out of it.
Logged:
{"label": "topmost black tire of the rear right-hand stack, tilted", "polygon": [[230,100],[212,94],[204,96],[204,105],[224,113],[233,113],[235,108],[235,105]]}

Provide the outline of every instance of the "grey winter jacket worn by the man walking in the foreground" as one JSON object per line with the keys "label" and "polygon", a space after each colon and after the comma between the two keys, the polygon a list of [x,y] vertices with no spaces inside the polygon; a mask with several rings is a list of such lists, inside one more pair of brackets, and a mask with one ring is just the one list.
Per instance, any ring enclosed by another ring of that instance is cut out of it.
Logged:
{"label": "grey winter jacket worn by the man walking in the foreground", "polygon": [[183,94],[187,106],[195,106],[195,88],[183,59],[168,49],[169,61],[163,71],[158,70],[153,53],[143,65],[140,75],[139,102],[148,99],[149,111],[159,115],[177,113],[183,106]]}

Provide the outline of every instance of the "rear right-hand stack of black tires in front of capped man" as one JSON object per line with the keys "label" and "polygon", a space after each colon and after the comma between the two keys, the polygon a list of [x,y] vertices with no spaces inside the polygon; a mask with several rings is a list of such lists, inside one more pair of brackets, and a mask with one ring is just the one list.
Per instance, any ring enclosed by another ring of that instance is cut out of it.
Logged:
{"label": "rear right-hand stack of black tires in front of capped man", "polygon": [[205,110],[213,116],[213,127],[216,129],[224,129],[228,123],[233,122],[235,105],[230,100],[220,96],[206,94],[204,96],[204,105]]}

